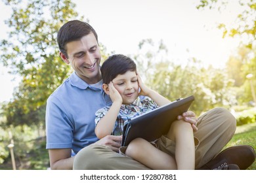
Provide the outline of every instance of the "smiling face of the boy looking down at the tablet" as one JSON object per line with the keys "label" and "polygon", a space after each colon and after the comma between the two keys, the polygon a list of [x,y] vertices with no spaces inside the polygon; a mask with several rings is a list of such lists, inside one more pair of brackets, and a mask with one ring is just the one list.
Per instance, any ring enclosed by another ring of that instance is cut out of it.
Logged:
{"label": "smiling face of the boy looking down at the tablet", "polygon": [[127,71],[123,75],[117,75],[112,81],[116,90],[120,93],[123,104],[131,104],[139,95],[139,83],[135,71]]}

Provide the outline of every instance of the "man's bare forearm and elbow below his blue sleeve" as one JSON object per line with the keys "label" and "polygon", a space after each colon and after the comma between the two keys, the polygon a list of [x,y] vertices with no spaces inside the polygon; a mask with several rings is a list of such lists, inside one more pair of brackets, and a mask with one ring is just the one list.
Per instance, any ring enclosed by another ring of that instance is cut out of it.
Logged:
{"label": "man's bare forearm and elbow below his blue sleeve", "polygon": [[50,166],[52,170],[72,170],[74,157],[71,148],[49,149]]}

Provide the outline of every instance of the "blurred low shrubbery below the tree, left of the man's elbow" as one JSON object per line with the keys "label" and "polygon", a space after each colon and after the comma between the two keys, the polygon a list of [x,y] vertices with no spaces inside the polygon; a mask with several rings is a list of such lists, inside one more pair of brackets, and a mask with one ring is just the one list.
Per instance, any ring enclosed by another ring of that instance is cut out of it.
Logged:
{"label": "blurred low shrubbery below the tree, left of the man's elbow", "polygon": [[39,135],[37,127],[10,127],[1,129],[0,134],[0,170],[12,169],[12,161],[7,147],[12,132],[14,140],[14,158],[16,169],[47,169],[49,167],[48,150],[45,149],[45,136]]}

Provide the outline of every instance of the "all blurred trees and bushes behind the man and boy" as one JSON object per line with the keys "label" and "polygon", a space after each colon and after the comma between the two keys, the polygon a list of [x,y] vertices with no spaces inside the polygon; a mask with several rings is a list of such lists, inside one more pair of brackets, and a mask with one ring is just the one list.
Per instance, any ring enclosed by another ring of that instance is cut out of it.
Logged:
{"label": "all blurred trees and bushes behind the man and boy", "polygon": [[[89,20],[78,16],[70,0],[3,1],[12,8],[12,16],[5,22],[11,28],[9,37],[0,41],[1,62],[22,80],[11,101],[0,104],[0,169],[12,169],[7,148],[10,132],[18,169],[46,169],[49,167],[45,150],[46,101],[72,72],[58,56],[56,34],[68,20]],[[201,0],[195,8],[221,11],[226,3]],[[236,54],[226,61],[226,68],[205,68],[197,58],[175,63],[167,57],[163,41],[146,39],[139,42],[138,53],[131,56],[144,82],[171,101],[194,95],[196,100],[190,110],[198,116],[211,108],[225,107],[236,115],[238,125],[255,123],[256,3],[240,1],[240,5],[246,8],[238,14],[237,27],[228,29],[219,24],[219,29],[223,30],[223,37],[246,35],[249,42],[241,42]],[[111,53],[106,53],[102,44],[100,48],[104,61]]]}

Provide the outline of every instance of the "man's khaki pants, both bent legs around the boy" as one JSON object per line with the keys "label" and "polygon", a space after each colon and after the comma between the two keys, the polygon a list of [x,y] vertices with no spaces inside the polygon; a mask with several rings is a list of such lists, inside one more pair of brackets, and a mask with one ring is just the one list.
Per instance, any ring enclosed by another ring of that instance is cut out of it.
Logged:
{"label": "man's khaki pants, both bent legs around the boy", "polygon": [[[199,141],[196,148],[196,169],[217,156],[230,141],[236,130],[236,119],[225,108],[214,108],[198,118],[197,127],[198,131],[194,132],[194,137]],[[168,146],[164,151],[168,151]],[[133,170],[148,167],[110,148],[91,144],[77,153],[73,169]]]}

